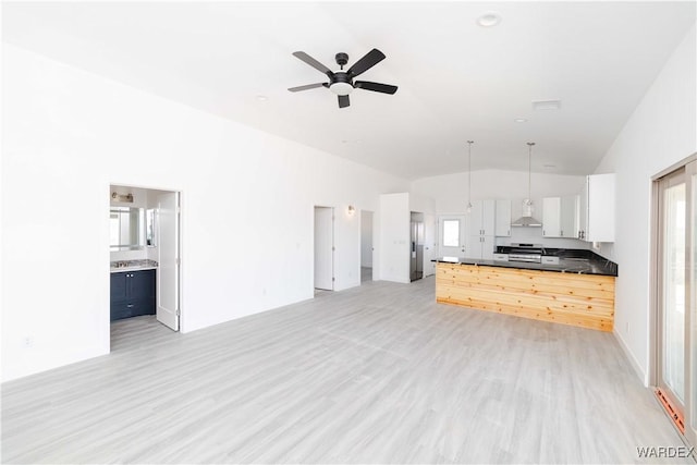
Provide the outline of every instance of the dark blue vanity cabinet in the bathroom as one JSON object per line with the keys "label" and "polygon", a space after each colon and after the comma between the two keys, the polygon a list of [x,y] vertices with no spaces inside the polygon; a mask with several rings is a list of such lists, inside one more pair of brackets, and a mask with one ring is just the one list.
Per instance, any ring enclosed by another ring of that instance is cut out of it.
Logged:
{"label": "dark blue vanity cabinet in the bathroom", "polygon": [[156,270],[111,273],[111,321],[155,315]]}

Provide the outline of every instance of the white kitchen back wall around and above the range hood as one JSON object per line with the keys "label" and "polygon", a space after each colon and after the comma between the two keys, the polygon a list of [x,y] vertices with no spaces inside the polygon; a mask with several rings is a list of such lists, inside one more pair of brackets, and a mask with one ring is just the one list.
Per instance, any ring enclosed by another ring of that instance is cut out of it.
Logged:
{"label": "white kitchen back wall around and above the range hood", "polygon": [[[435,199],[437,215],[465,213],[467,205],[467,173],[453,173],[424,178],[412,183],[412,192]],[[579,194],[585,176],[533,173],[531,196],[535,218],[542,219],[542,197]],[[472,199],[512,199],[511,216],[515,220],[523,213],[522,203],[527,197],[527,172],[480,170],[472,173]],[[541,228],[512,228],[511,237],[498,237],[497,245],[533,242],[547,247],[588,248],[588,243],[573,238],[543,237]]]}

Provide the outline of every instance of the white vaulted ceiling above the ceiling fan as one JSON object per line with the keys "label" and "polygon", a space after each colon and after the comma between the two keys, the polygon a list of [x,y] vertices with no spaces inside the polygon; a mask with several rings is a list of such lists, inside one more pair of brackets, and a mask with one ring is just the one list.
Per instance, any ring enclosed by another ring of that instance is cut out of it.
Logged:
{"label": "white vaulted ceiling above the ceiling fan", "polygon": [[[500,13],[491,28],[476,24]],[[407,179],[594,171],[695,23],[683,2],[3,2],[3,40]],[[378,48],[339,109],[291,53]],[[268,97],[259,101],[257,96]],[[534,110],[533,100],[561,109]],[[514,119],[524,118],[526,123]],[[554,167],[545,167],[553,164]]]}

